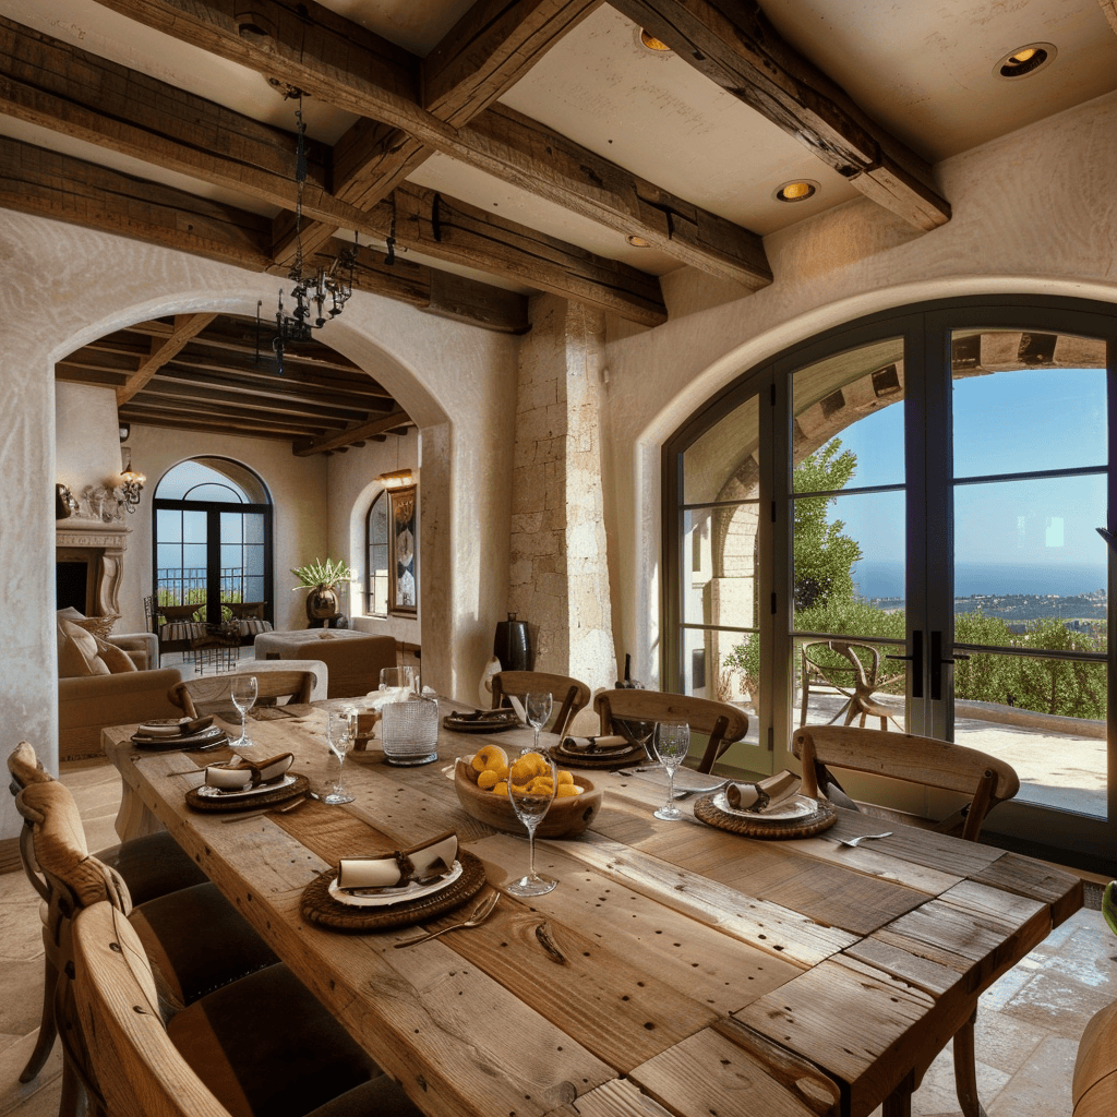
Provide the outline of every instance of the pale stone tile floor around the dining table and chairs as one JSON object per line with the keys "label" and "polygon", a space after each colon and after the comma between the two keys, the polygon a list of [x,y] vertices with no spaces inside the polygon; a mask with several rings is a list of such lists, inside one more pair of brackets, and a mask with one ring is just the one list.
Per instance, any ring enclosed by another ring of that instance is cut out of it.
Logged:
{"label": "pale stone tile floor around the dining table and chairs", "polygon": [[[89,848],[115,843],[116,771],[86,761],[67,765],[63,781],[82,808]],[[57,1046],[36,1081],[18,1081],[39,1024],[41,964],[38,897],[22,872],[0,875],[0,1117],[58,1111]],[[1117,938],[1100,911],[1079,911],[982,997],[977,1082],[989,1117],[1070,1117],[1078,1038],[1115,999]],[[911,1110],[917,1117],[958,1114],[949,1048],[927,1072]]]}

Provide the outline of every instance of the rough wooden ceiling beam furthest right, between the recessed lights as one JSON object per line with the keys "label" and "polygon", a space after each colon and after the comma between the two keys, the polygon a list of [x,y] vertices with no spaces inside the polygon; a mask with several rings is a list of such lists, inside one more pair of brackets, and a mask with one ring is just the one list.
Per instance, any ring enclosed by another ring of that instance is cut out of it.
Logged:
{"label": "rough wooden ceiling beam furthest right, between the recessed lights", "polygon": [[609,0],[684,61],[919,229],[951,217],[930,165],[790,46],[755,0]]}

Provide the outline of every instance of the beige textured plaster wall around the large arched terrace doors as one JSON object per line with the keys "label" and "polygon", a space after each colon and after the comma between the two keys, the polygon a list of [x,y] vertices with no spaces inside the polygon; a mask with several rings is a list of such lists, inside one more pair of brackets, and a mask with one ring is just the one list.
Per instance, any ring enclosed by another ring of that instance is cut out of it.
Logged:
{"label": "beige textured plaster wall around the large arched terrace doors", "polygon": [[[660,447],[742,372],[861,315],[932,298],[1043,294],[1117,302],[1117,95],[936,168],[953,218],[916,233],[856,201],[767,237],[775,283],[732,297],[665,280],[671,319],[609,321],[609,527],[617,647],[659,674]],[[777,746],[779,747],[779,746]],[[781,763],[777,754],[776,765]]]}

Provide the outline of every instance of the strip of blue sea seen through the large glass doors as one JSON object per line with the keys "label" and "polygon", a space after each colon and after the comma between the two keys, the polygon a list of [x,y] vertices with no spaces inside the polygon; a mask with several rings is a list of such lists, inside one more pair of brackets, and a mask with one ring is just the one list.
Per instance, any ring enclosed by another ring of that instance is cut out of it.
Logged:
{"label": "strip of blue sea seen through the large glass doors", "polygon": [[[904,563],[862,561],[853,564],[853,583],[862,598],[903,598]],[[1105,590],[1104,564],[1066,563],[1038,566],[1031,563],[958,563],[954,571],[954,595],[1054,593],[1069,598]]]}

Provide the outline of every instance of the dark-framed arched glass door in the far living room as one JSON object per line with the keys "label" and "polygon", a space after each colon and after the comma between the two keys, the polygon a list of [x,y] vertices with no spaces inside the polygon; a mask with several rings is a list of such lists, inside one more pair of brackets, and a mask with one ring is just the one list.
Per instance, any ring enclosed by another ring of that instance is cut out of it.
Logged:
{"label": "dark-framed arched glass door in the far living room", "polygon": [[222,604],[258,604],[274,620],[271,500],[250,469],[194,458],[168,470],[153,500],[155,604],[203,605],[202,620],[228,620]]}

